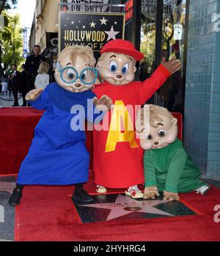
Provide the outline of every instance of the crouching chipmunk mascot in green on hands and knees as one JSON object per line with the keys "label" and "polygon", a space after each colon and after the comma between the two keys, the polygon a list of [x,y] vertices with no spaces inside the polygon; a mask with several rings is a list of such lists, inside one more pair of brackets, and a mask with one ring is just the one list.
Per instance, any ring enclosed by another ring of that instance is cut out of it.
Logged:
{"label": "crouching chipmunk mascot in green on hands and knees", "polygon": [[145,105],[136,118],[136,134],[144,152],[144,199],[179,200],[178,192],[205,194],[210,186],[200,180],[200,170],[177,139],[177,119],[165,108]]}

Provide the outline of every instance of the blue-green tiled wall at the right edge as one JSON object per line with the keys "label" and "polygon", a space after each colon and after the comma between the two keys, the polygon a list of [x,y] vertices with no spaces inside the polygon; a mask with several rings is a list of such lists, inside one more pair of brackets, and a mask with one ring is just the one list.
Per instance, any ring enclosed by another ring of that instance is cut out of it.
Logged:
{"label": "blue-green tiled wall at the right edge", "polygon": [[189,5],[185,144],[202,174],[220,176],[220,1]]}

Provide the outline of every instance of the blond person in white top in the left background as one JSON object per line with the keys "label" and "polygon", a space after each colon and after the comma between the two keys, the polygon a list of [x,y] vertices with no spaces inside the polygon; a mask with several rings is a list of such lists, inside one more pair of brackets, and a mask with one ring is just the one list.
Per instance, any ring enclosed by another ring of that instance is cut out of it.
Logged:
{"label": "blond person in white top in the left background", "polygon": [[47,85],[50,83],[50,76],[48,75],[50,66],[48,65],[48,62],[41,62],[39,69],[37,70],[38,75],[35,78],[34,87],[36,89],[47,87]]}

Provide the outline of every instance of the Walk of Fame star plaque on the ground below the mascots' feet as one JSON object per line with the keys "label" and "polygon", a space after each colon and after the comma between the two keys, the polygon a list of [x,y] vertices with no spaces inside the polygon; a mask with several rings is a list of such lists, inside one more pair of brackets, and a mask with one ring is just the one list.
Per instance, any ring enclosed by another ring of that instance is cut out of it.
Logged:
{"label": "Walk of Fame star plaque on the ground below the mascots' feet", "polygon": [[133,200],[123,194],[95,195],[93,199],[94,202],[84,205],[74,202],[83,223],[197,214],[179,201]]}

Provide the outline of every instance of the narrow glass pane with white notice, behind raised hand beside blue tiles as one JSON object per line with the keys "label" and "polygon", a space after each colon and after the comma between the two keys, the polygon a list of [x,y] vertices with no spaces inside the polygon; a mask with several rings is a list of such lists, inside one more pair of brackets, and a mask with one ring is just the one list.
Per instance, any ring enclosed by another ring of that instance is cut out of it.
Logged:
{"label": "narrow glass pane with white notice, behind raised hand beside blue tiles", "polygon": [[183,74],[186,31],[186,0],[164,0],[162,56],[180,59],[182,69],[158,91],[157,103],[169,111],[184,113],[185,84]]}

